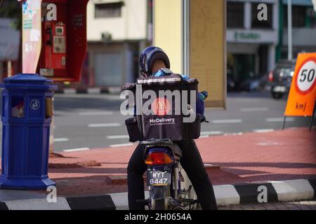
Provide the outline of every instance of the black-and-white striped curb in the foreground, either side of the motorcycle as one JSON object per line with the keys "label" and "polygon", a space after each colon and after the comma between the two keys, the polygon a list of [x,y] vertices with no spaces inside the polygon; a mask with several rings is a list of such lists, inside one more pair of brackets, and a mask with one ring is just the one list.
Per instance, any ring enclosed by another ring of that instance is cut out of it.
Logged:
{"label": "black-and-white striped curb in the foreground, either side of the motorcycle", "polygon": [[[213,188],[218,206],[260,203],[258,198],[266,198],[268,203],[316,199],[316,179],[218,185]],[[55,203],[48,203],[46,197],[8,200],[0,202],[0,210],[128,210],[127,196],[128,193],[58,197]],[[145,197],[148,197],[147,191]]]}

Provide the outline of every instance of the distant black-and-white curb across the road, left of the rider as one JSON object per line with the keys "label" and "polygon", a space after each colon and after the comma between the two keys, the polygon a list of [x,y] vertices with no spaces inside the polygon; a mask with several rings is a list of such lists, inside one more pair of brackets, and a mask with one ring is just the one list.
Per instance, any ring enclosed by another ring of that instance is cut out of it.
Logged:
{"label": "distant black-and-white curb across the road, left of the rider", "polygon": [[56,90],[60,94],[119,94],[121,87],[86,87],[86,88],[63,88]]}

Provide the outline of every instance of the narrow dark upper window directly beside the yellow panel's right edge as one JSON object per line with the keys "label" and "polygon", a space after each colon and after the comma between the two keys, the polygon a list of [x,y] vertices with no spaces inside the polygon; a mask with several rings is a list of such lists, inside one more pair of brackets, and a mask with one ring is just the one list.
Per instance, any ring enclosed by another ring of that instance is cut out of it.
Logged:
{"label": "narrow dark upper window directly beside the yellow panel's right edge", "polygon": [[244,3],[228,1],[227,27],[228,28],[243,28],[244,27]]}

